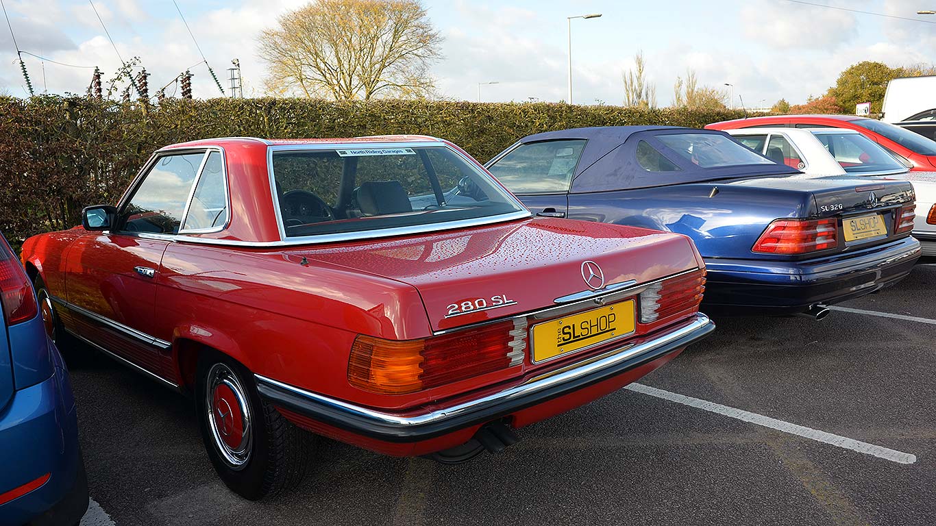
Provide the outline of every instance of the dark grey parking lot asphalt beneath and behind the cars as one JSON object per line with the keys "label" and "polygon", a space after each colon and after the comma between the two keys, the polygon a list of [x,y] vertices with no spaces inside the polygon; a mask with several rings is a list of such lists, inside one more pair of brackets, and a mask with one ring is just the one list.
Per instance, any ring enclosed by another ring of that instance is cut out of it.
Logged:
{"label": "dark grey parking lot asphalt beneath and behind the cars", "polygon": [[655,389],[461,465],[322,439],[300,488],[263,503],[214,475],[191,402],[95,356],[72,369],[82,524],[936,524],[934,292],[920,265],[821,322],[716,319],[640,381]]}

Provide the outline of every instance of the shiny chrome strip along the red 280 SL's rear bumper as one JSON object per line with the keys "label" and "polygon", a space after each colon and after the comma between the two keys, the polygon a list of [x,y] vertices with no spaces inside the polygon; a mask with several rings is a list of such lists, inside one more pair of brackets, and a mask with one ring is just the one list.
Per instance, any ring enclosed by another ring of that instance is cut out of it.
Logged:
{"label": "shiny chrome strip along the red 280 SL's rear bumper", "polygon": [[437,409],[415,416],[400,416],[391,413],[384,413],[370,409],[368,407],[360,406],[355,403],[344,402],[329,396],[301,389],[300,387],[293,387],[260,374],[255,374],[254,376],[259,383],[280,387],[294,395],[299,396],[302,399],[306,399],[307,401],[313,402],[316,405],[327,406],[329,409],[337,410],[340,413],[346,414],[347,416],[353,416],[361,420],[370,421],[373,424],[391,429],[407,429],[443,422],[456,417],[482,411],[484,409],[490,408],[491,406],[496,406],[505,402],[512,402],[516,399],[532,395],[550,387],[556,387],[558,385],[574,381],[580,377],[584,377],[592,373],[598,373],[603,369],[613,367],[631,358],[636,358],[642,354],[650,353],[653,350],[665,347],[666,345],[677,343],[680,339],[698,336],[697,333],[699,331],[710,330],[711,328],[709,326],[713,326],[713,324],[709,320],[708,316],[701,313],[695,314],[695,318],[686,325],[680,327],[679,329],[674,329],[672,332],[666,333],[655,340],[636,345],[629,343],[623,345],[619,352],[615,352],[614,354],[610,355],[603,355],[604,358],[599,358],[596,360],[585,360],[578,364],[578,367],[561,370],[561,372],[557,373],[544,374],[524,384],[520,384],[514,387],[507,387],[502,391],[492,393],[477,400],[461,402],[443,409]]}

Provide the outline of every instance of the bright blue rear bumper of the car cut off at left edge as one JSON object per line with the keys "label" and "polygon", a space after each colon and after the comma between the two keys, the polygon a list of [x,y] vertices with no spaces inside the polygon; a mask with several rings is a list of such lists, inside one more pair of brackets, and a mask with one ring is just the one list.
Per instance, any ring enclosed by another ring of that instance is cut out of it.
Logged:
{"label": "bright blue rear bumper of the car cut off at left edge", "polygon": [[71,384],[53,354],[51,377],[16,391],[0,410],[0,494],[44,480],[0,504],[0,524],[75,524],[88,507]]}

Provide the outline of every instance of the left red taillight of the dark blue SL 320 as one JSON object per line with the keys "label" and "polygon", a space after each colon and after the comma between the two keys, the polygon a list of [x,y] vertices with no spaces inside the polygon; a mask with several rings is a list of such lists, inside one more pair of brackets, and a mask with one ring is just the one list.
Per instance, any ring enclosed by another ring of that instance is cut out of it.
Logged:
{"label": "left red taillight of the dark blue SL 320", "polygon": [[753,252],[807,254],[839,246],[839,223],[831,219],[778,219],[754,243]]}

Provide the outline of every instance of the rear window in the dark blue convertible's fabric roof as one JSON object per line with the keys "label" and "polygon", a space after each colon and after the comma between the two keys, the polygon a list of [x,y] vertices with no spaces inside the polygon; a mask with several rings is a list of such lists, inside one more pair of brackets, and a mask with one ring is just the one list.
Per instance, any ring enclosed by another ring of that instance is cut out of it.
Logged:
{"label": "rear window in the dark blue convertible's fabric roof", "polygon": [[773,164],[767,157],[713,133],[660,134],[656,138],[701,168]]}

